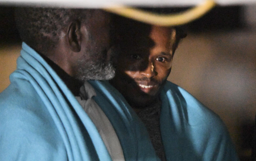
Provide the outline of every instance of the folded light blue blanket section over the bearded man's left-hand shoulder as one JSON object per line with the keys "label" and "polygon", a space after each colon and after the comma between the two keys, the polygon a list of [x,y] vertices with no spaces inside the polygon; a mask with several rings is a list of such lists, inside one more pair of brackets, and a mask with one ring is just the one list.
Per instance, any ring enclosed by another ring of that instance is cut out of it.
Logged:
{"label": "folded light blue blanket section over the bearded man's left-hand shoulder", "polygon": [[10,81],[0,94],[0,160],[111,160],[73,94],[25,43]]}

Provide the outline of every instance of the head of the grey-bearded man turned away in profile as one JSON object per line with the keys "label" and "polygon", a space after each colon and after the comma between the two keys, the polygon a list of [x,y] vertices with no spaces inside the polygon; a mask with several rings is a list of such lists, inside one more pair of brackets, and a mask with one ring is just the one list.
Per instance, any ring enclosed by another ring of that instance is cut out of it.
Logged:
{"label": "head of the grey-bearded man turned away in profile", "polygon": [[80,80],[114,76],[110,16],[102,10],[18,8],[21,39]]}

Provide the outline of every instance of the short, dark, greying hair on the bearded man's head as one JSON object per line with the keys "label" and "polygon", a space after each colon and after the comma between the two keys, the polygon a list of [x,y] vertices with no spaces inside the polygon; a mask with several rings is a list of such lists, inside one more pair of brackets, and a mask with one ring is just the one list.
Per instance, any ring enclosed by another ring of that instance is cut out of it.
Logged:
{"label": "short, dark, greying hair on the bearded man's head", "polygon": [[61,30],[72,20],[86,20],[86,9],[15,8],[15,21],[21,40],[41,53],[55,47]]}

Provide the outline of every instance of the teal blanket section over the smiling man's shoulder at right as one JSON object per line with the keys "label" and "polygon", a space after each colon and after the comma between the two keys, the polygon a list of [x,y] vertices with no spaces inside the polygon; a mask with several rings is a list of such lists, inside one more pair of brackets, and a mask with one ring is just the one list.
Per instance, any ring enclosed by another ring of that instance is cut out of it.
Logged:
{"label": "teal blanket section over the smiling man's shoulder at right", "polygon": [[191,94],[167,82],[161,100],[167,160],[239,160],[222,120]]}

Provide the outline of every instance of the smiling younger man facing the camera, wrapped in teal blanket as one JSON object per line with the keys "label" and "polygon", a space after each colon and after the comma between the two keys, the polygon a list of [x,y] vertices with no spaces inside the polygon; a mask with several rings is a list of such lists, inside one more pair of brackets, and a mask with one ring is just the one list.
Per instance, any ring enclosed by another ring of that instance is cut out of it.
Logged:
{"label": "smiling younger man facing the camera, wrapped in teal blanket", "polygon": [[182,34],[177,28],[118,19],[118,89],[147,128],[161,160],[239,160],[225,125],[179,86],[166,81]]}

